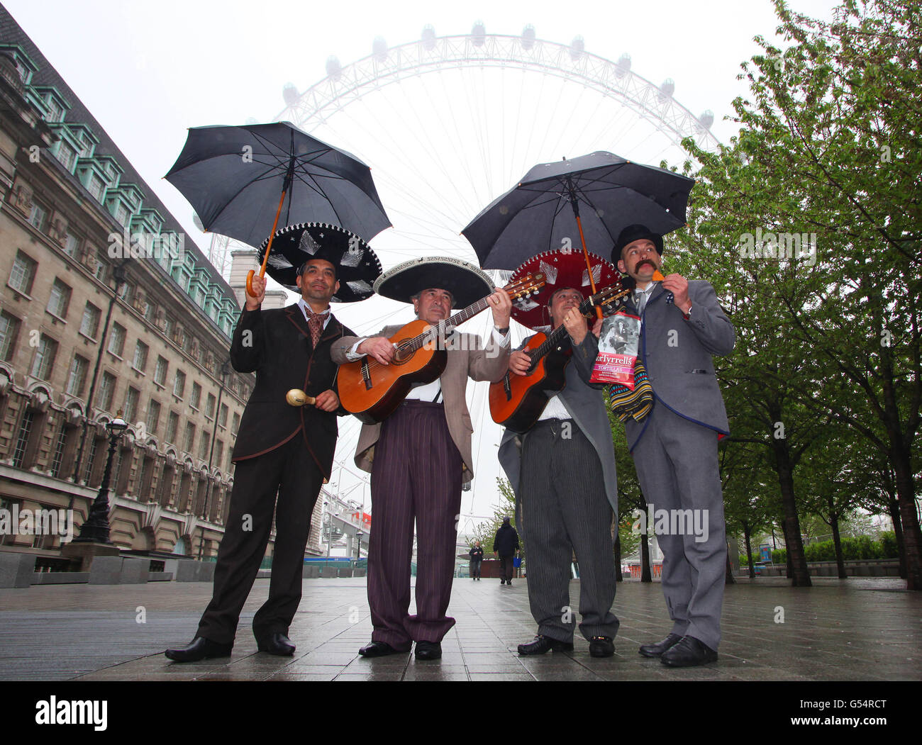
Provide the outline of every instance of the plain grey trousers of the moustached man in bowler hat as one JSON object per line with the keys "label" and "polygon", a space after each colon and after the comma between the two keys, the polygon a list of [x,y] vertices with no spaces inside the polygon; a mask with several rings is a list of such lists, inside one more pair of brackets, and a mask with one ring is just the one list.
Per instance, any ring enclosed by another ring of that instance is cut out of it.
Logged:
{"label": "plain grey trousers of the moustached man in bowler hat", "polygon": [[668,526],[661,524],[665,532],[656,530],[656,541],[663,551],[663,595],[672,633],[716,649],[727,572],[717,433],[657,401],[632,455],[644,499],[653,507],[652,527],[660,510],[669,517]]}

